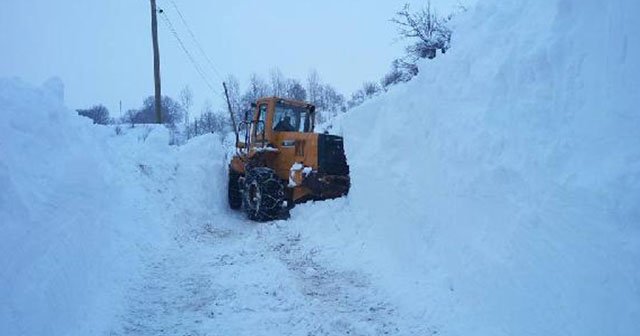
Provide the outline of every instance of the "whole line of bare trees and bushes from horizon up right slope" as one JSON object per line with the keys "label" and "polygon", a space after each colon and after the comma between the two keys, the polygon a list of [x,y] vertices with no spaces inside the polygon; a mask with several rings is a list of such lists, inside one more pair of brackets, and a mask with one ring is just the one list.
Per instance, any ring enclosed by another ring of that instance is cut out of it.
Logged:
{"label": "whole line of bare trees and bushes from horizon up right slope", "polygon": [[[465,10],[466,8],[459,6],[459,11]],[[267,78],[252,74],[244,89],[240,87],[237,78],[230,75],[226,83],[236,120],[243,120],[251,103],[265,96],[308,101],[316,106],[320,122],[359,106],[380,92],[414,78],[420,71],[419,60],[434,59],[438,51],[445,54],[451,47],[452,30],[449,22],[454,14],[441,17],[430,2],[417,11],[412,11],[408,4],[404,5],[390,20],[398,29],[398,39],[408,42],[403,55],[391,63],[390,71],[380,80],[365,81],[348,99],[333,85],[323,82],[315,70],[310,71],[304,80],[300,80],[288,77],[278,68],[274,68]],[[188,86],[180,92],[178,100],[168,96],[162,97],[162,120],[174,134],[174,142],[184,142],[206,133],[230,131],[226,104],[214,107],[207,101],[197,117],[191,117],[196,115],[192,111],[193,100],[193,92]],[[155,122],[152,96],[146,98],[140,108],[128,110],[118,119],[111,118],[108,109],[103,105],[79,109],[77,112],[81,116],[91,118],[96,124],[135,125]]]}

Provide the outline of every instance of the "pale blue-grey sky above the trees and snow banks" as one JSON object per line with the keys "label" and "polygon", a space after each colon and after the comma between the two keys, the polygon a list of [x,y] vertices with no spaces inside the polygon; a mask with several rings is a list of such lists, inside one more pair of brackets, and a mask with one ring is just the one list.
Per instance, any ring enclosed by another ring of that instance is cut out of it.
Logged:
{"label": "pale blue-grey sky above the trees and snow banks", "polygon": [[[163,94],[177,97],[189,85],[195,109],[222,103],[221,77],[241,85],[251,73],[265,79],[277,67],[303,80],[311,69],[346,95],[378,80],[402,54],[394,42],[393,13],[415,0],[173,0],[213,67],[184,28],[171,0],[158,0],[187,49],[212,82],[212,93],[159,18]],[[454,0],[432,1],[441,13]],[[139,107],[153,94],[148,0],[3,0],[0,77],[39,84],[65,83],[70,108],[104,104],[112,116]],[[215,69],[213,69],[215,68]]]}

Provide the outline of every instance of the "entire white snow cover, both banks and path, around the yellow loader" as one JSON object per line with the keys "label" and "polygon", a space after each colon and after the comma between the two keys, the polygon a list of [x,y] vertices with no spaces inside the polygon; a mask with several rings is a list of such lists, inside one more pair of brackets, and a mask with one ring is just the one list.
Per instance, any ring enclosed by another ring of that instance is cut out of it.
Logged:
{"label": "entire white snow cover, both banks and path, around the yellow loader", "polygon": [[333,121],[352,189],[255,224],[229,143],[0,80],[3,335],[637,335],[640,3],[479,1]]}

